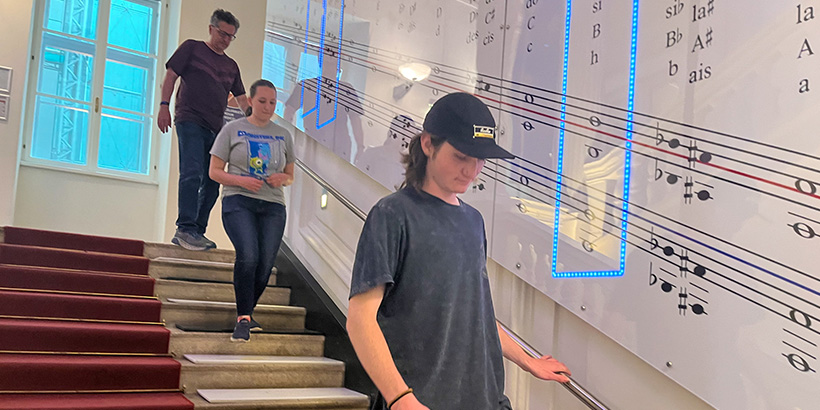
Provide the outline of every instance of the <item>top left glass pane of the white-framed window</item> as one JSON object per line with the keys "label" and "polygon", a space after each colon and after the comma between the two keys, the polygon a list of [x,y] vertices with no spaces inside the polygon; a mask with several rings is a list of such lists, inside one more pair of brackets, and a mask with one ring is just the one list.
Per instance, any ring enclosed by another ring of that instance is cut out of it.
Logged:
{"label": "top left glass pane of the white-framed window", "polygon": [[43,26],[89,39],[97,38],[98,0],[48,0]]}

